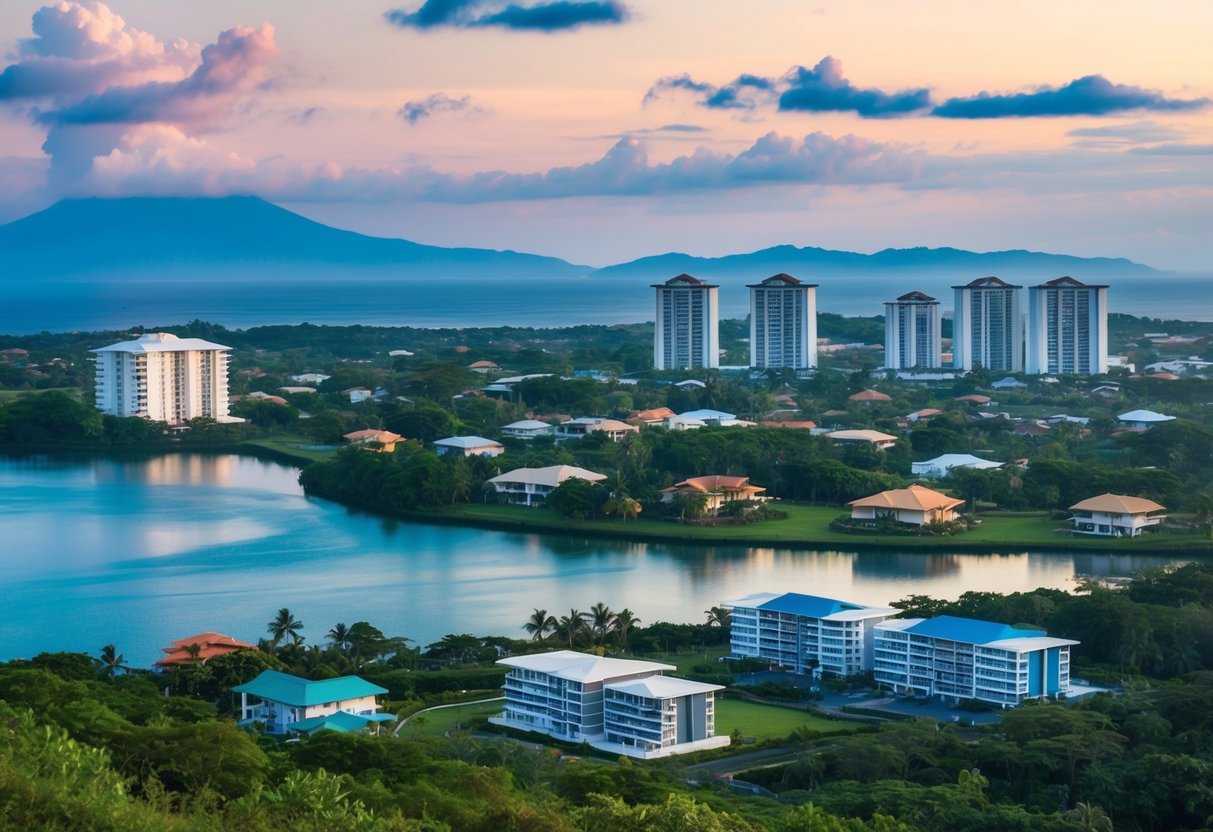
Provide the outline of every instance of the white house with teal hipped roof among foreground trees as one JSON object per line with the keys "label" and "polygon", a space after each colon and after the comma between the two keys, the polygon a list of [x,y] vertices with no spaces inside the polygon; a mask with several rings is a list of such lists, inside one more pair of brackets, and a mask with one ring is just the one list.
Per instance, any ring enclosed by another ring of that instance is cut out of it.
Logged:
{"label": "white house with teal hipped roof among foreground trees", "polygon": [[256,679],[232,691],[240,694],[240,724],[263,723],[267,734],[323,730],[346,734],[395,719],[378,713],[377,697],[387,688],[357,676],[312,682],[290,673],[262,671]]}

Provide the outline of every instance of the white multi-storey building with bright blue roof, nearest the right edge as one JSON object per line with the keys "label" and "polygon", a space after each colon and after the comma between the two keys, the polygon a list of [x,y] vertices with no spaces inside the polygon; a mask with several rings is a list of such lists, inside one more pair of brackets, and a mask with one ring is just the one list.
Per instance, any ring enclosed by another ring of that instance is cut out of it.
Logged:
{"label": "white multi-storey building with bright blue roof, nearest the right edge", "polygon": [[872,669],[893,693],[1002,707],[1065,694],[1070,648],[1078,644],[1043,629],[952,615],[890,619],[875,631]]}

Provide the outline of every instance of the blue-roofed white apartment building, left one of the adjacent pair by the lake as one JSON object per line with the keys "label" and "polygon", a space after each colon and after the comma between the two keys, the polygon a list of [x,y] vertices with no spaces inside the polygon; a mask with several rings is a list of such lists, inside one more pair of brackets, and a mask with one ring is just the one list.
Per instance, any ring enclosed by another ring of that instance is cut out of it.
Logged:
{"label": "blue-roofed white apartment building, left one of the adjacent pair by the lake", "polygon": [[852,602],[764,592],[725,604],[733,609],[730,653],[765,659],[796,673],[855,676],[872,667],[873,626],[896,610]]}

